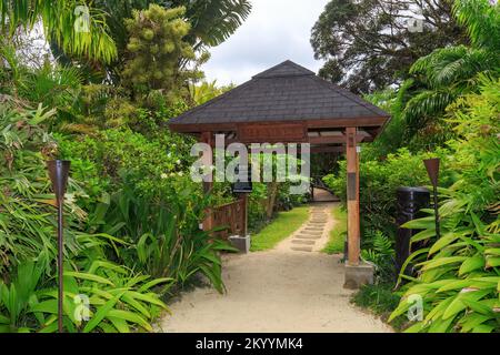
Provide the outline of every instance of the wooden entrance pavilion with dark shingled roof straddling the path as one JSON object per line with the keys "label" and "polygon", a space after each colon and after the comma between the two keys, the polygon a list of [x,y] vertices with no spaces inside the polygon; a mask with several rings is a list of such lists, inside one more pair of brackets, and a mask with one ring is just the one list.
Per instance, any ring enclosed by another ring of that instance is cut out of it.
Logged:
{"label": "wooden entrance pavilion with dark shingled roof straddling the path", "polygon": [[[211,145],[216,134],[224,134],[228,144],[310,143],[311,153],[344,153],[348,266],[357,267],[360,266],[358,144],[372,142],[389,120],[390,115],[373,104],[284,61],[171,120],[169,128]],[[246,201],[239,213],[246,213]]]}

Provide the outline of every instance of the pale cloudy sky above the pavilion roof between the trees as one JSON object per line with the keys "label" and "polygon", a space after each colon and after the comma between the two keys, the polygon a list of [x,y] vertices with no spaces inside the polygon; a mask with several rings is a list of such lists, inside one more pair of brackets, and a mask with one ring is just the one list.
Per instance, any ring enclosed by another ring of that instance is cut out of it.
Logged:
{"label": "pale cloudy sky above the pavilion roof between the trees", "polygon": [[238,31],[219,47],[210,49],[203,65],[208,81],[241,84],[254,74],[290,59],[314,72],[309,42],[311,29],[328,0],[251,0],[252,12]]}

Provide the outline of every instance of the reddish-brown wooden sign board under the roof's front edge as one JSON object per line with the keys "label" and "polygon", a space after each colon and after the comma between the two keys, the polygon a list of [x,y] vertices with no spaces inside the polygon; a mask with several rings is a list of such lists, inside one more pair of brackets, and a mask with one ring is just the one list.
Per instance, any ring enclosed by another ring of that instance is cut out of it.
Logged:
{"label": "reddish-brown wooden sign board under the roof's front edge", "polygon": [[258,123],[238,129],[241,143],[301,143],[307,141],[307,128],[301,123]]}

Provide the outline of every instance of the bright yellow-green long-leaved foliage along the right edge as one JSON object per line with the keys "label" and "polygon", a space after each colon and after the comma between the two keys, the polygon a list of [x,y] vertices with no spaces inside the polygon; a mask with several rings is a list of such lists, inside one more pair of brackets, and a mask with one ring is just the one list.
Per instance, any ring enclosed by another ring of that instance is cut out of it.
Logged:
{"label": "bright yellow-green long-leaved foliage along the right edge", "polygon": [[460,176],[440,190],[441,239],[436,239],[432,211],[406,224],[423,230],[412,243],[427,243],[403,266],[416,263],[418,275],[400,275],[400,283],[410,283],[390,318],[411,306],[409,297],[421,296],[426,317],[408,332],[500,331],[500,81],[482,78],[480,91],[461,99],[451,119],[461,136],[452,143],[452,166]]}

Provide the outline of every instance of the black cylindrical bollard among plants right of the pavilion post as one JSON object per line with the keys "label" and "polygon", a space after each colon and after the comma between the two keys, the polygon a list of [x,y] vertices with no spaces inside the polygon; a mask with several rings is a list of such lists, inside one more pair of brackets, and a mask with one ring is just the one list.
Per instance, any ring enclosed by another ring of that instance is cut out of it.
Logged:
{"label": "black cylindrical bollard among plants right of the pavilion post", "polygon": [[[430,191],[424,187],[400,187],[398,189],[398,236],[396,239],[396,271],[401,272],[401,267],[410,253],[410,239],[417,234],[417,230],[402,229],[401,225],[409,221],[417,220],[422,215],[421,209],[428,209],[430,205]],[[408,271],[406,271],[409,273]]]}

